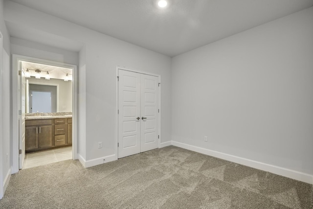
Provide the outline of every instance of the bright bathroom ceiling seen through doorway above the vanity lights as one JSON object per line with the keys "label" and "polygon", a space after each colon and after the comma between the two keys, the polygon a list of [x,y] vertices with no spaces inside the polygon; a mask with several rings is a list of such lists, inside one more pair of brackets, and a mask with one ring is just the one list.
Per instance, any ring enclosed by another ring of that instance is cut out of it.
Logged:
{"label": "bright bathroom ceiling seen through doorway above the vanity lights", "polygon": [[64,80],[66,74],[68,74],[68,80],[72,80],[72,69],[69,68],[61,68],[56,66],[49,66],[49,65],[42,65],[38,63],[31,63],[31,62],[22,62],[22,69],[29,70],[30,76],[35,76],[35,70],[41,70],[41,79],[45,79],[46,71],[49,72],[50,78],[54,79],[62,79]]}

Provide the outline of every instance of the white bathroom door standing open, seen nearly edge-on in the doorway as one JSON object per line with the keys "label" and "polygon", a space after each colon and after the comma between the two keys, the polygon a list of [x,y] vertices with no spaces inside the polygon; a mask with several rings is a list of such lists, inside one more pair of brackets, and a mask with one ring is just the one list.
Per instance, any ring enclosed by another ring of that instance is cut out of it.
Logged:
{"label": "white bathroom door standing open, seen nearly edge-on in the doorway", "polygon": [[[21,65],[21,63],[20,63]],[[19,66],[20,69],[22,69],[22,66]],[[20,125],[20,128],[19,128],[19,141],[20,141],[20,150],[22,152],[20,152],[20,155],[19,155],[19,167],[20,169],[22,169],[23,167],[23,163],[24,163],[24,159],[25,159],[25,73],[23,70],[21,70],[21,76],[20,77],[20,82],[19,82],[19,93],[20,93],[20,102],[19,102],[19,105],[20,105],[20,119],[19,119],[19,125]]]}

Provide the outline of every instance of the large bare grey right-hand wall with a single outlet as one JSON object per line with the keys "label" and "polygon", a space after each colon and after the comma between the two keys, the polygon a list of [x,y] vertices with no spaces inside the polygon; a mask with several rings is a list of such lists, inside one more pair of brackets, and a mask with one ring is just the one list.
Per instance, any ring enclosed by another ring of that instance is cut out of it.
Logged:
{"label": "large bare grey right-hand wall with a single outlet", "polygon": [[172,73],[174,141],[313,174],[313,7],[176,56]]}

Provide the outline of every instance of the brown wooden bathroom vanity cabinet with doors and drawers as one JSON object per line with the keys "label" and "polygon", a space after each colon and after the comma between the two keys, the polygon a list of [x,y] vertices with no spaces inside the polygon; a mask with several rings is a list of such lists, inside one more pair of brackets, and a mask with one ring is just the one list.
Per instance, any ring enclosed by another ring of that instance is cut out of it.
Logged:
{"label": "brown wooden bathroom vanity cabinet with doors and drawers", "polygon": [[26,120],[26,152],[41,151],[45,149],[71,145],[71,122],[72,118]]}

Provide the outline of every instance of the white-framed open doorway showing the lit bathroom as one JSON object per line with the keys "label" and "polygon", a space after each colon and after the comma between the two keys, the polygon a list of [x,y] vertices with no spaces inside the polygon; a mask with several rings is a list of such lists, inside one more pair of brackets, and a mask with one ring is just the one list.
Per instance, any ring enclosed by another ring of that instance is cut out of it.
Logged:
{"label": "white-framed open doorway showing the lit bathroom", "polygon": [[76,66],[13,55],[12,67],[12,173],[76,159]]}

